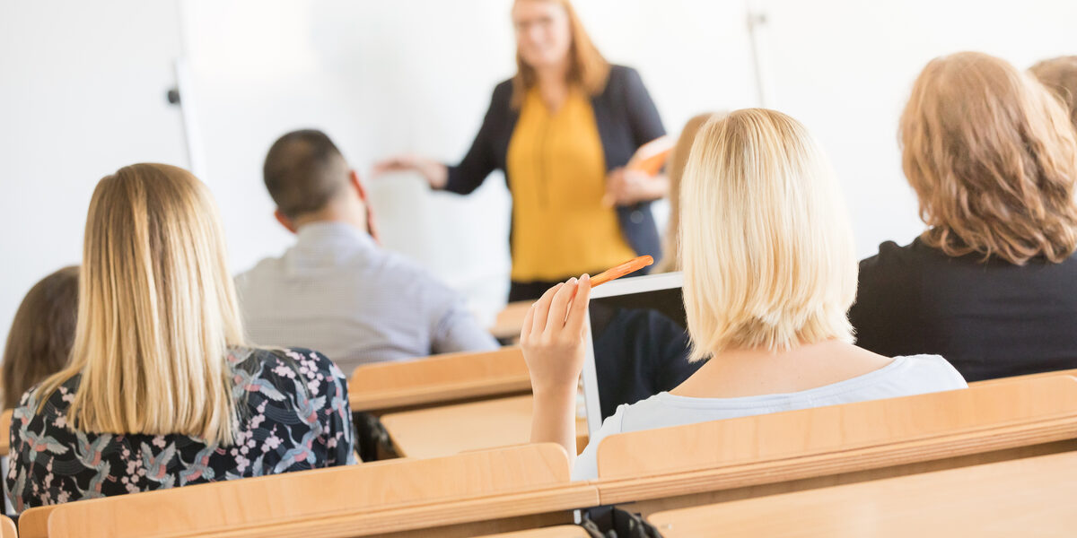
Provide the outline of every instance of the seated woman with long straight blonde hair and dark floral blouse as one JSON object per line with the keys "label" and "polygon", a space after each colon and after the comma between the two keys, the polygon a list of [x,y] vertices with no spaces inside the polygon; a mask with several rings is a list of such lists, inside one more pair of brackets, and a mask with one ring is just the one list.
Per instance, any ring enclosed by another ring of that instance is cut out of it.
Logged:
{"label": "seated woman with long straight blonde hair and dark floral blouse", "polygon": [[71,362],[23,397],[10,455],[19,512],[349,464],[348,384],[246,342],[209,189],[132,165],[94,190]]}

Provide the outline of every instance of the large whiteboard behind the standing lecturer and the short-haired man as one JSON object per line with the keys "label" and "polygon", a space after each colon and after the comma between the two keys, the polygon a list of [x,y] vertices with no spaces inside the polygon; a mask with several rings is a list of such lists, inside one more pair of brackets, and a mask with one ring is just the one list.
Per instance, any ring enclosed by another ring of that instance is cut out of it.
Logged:
{"label": "large whiteboard behind the standing lecturer and the short-haired man", "polygon": [[[417,176],[372,180],[367,171],[402,152],[447,162],[463,156],[493,86],[515,71],[512,2],[185,5],[205,175],[225,212],[234,267],[291,241],[271,217],[261,161],[278,136],[317,127],[367,178],[384,244],[465,291],[492,318],[508,280],[501,175],[459,197],[432,194]],[[696,111],[751,103],[741,4],[590,0],[579,8],[610,58],[641,70],[671,130]],[[711,69],[684,84],[684,66],[704,63]]]}

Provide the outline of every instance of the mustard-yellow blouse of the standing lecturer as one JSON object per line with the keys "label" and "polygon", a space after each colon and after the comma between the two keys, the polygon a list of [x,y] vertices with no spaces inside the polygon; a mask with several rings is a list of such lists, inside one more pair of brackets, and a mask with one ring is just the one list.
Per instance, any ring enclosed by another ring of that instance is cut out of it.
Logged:
{"label": "mustard-yellow blouse of the standing lecturer", "polygon": [[591,102],[573,89],[554,113],[537,89],[523,98],[508,142],[516,282],[562,280],[635,256],[602,204],[605,157]]}

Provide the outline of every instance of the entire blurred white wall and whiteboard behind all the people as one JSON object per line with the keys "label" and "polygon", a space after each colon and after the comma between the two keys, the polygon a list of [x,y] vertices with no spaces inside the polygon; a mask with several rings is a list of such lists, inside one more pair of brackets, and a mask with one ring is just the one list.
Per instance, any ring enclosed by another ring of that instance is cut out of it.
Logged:
{"label": "entire blurred white wall and whiteboard behind all the people", "polygon": [[[397,153],[456,162],[515,72],[510,0],[0,0],[0,336],[39,279],[81,258],[97,181],[138,161],[191,168],[221,207],[234,272],[291,242],[262,160],[285,131],[335,139],[386,246],[504,306],[508,196],[372,180]],[[897,118],[927,60],[982,51],[1019,68],[1077,53],[1073,0],[576,0],[599,49],[637,68],[666,129],[765,105],[805,123],[844,186],[858,254],[923,228]],[[182,108],[166,99],[181,90]],[[656,208],[660,226],[665,206]]]}

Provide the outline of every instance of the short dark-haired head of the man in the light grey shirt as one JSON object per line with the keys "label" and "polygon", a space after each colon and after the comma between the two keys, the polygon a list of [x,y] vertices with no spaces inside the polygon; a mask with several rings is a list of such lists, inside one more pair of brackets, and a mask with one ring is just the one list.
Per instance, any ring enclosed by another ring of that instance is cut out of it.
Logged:
{"label": "short dark-haired head of the man in the light grey shirt", "polygon": [[324,132],[304,129],[277,139],[263,166],[277,220],[295,231],[316,221],[344,221],[369,229],[359,176]]}

